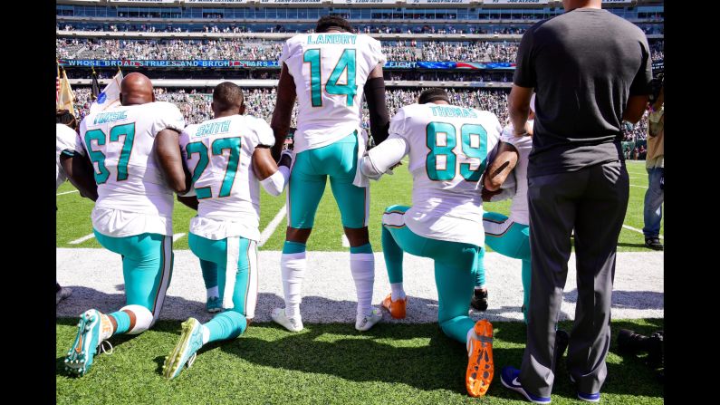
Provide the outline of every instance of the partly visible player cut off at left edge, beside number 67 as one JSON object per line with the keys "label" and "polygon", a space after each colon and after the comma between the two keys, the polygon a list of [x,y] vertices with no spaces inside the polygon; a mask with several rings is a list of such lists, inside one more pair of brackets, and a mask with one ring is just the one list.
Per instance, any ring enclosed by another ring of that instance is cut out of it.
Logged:
{"label": "partly visible player cut off at left edge, beside number 67", "polygon": [[[69,179],[82,197],[97,200],[97,186],[91,176],[88,176],[90,169],[85,164],[85,150],[78,138],[78,121],[70,111],[58,110],[55,124],[55,190]],[[71,294],[70,288],[62,287],[55,281],[55,304],[59,304]]]}

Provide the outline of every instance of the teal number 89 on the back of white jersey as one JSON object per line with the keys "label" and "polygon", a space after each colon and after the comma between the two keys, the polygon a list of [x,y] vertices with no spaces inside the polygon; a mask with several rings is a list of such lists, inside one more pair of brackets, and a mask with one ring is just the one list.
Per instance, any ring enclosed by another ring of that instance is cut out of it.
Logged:
{"label": "teal number 89 on the back of white jersey", "polygon": [[[457,173],[457,156],[453,151],[457,145],[455,125],[434,121],[427,124],[425,132],[427,149],[430,149],[425,159],[427,177],[436,181],[454,179]],[[444,134],[445,140],[438,142],[443,139],[438,134]],[[482,125],[463,124],[460,127],[460,146],[467,158],[480,159],[480,164],[475,170],[470,169],[470,163],[461,163],[460,175],[467,181],[479,180],[487,164],[487,131]],[[445,156],[445,169],[437,169],[438,156]]]}

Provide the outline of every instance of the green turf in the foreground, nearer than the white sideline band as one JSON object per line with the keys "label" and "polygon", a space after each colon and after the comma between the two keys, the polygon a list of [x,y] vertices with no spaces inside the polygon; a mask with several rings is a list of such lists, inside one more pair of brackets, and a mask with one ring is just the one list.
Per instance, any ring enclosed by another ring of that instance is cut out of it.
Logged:
{"label": "green turf in the foreground, nearer than the white sideline band", "polygon": [[[114,338],[114,352],[96,358],[82,378],[63,371],[76,320],[58,320],[57,403],[240,403],[240,404],[454,404],[528,403],[500,382],[504,365],[518,367],[523,323],[494,323],[494,380],[485,398],[466,395],[465,345],[446,337],[435,323],[379,323],[368,333],[350,324],[305,325],[301,333],[254,324],[232,342],[203,348],[190,369],[166,381],[160,371],[180,333],[179,322],[158,322],[136,337]],[[613,321],[608,379],[601,403],[661,404],[663,385],[641,358],[619,355],[620,328],[649,335],[662,320]],[[563,322],[568,329],[571,324]],[[581,403],[562,362],[553,404]]]}

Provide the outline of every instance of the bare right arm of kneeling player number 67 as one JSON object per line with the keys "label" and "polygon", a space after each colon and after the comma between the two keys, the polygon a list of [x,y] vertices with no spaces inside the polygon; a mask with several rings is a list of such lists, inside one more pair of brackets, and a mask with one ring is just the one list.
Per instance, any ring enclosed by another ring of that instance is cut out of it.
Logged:
{"label": "bare right arm of kneeling player number 67", "polygon": [[190,189],[191,177],[183,163],[179,136],[177,130],[160,130],[155,137],[155,153],[168,186],[176,193],[184,194]]}

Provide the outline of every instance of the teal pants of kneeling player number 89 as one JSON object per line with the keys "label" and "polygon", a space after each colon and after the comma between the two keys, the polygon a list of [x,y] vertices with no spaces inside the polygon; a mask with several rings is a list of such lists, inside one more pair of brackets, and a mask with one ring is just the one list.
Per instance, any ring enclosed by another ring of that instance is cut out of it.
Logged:
{"label": "teal pants of kneeling player number 89", "polygon": [[[465,343],[467,331],[475,325],[467,316],[467,308],[473,295],[473,277],[479,247],[418,236],[408,227],[383,226],[381,237],[390,283],[397,283],[398,278],[402,280],[403,251],[435,260],[437,322],[447,336]],[[386,246],[392,250],[389,255],[386,253]]]}

